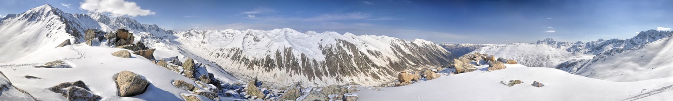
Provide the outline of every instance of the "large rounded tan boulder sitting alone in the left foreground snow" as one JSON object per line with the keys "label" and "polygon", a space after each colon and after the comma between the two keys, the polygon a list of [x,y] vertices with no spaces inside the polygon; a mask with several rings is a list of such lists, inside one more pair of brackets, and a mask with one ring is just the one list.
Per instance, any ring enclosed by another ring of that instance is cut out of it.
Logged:
{"label": "large rounded tan boulder sitting alone in the left foreground snow", "polygon": [[114,81],[117,86],[117,94],[122,97],[143,94],[147,90],[147,86],[149,86],[149,81],[129,71],[119,72],[114,77]]}

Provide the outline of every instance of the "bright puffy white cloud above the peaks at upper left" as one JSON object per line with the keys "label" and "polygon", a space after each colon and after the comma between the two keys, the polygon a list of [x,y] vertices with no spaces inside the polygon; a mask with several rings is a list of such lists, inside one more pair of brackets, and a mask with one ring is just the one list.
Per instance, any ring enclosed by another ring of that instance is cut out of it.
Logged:
{"label": "bright puffy white cloud above the peaks at upper left", "polygon": [[141,9],[135,2],[124,0],[85,0],[80,3],[79,8],[99,12],[112,13],[114,16],[129,15],[131,17],[154,15],[154,12],[148,9]]}

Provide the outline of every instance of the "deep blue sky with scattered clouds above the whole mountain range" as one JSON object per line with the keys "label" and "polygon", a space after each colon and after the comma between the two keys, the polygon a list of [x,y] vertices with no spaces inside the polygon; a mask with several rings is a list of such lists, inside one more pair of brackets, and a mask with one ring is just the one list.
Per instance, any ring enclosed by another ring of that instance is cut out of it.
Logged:
{"label": "deep blue sky with scattered clouds above the whole mountain range", "polygon": [[626,39],[635,32],[673,27],[670,0],[112,0],[135,5],[127,10],[98,7],[106,3],[81,7],[92,1],[99,0],[3,0],[0,15],[48,3],[67,13],[98,9],[176,31],[287,27],[435,43],[532,43],[548,37],[557,41]]}

